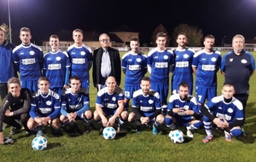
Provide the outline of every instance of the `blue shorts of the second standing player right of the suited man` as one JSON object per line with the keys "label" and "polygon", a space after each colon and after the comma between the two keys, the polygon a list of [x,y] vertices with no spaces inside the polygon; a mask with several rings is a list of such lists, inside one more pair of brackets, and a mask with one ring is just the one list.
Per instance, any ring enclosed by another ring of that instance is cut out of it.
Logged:
{"label": "blue shorts of the second standing player right of the suited man", "polygon": [[167,105],[169,85],[168,84],[151,84],[151,89],[159,93],[161,104]]}

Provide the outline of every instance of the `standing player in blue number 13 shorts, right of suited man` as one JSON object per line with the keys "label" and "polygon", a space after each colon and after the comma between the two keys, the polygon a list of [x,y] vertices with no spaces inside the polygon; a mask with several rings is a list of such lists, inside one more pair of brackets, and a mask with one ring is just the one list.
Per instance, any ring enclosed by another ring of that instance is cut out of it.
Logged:
{"label": "standing player in blue number 13 shorts, right of suited man", "polygon": [[128,110],[129,101],[133,92],[140,89],[141,79],[148,71],[147,55],[139,51],[139,38],[131,38],[131,51],[122,57],[122,69],[125,73],[125,110]]}

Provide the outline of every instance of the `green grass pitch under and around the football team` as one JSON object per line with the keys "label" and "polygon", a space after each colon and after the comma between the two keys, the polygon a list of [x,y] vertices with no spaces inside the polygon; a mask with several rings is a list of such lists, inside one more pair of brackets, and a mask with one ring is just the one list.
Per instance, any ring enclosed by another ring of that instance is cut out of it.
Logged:
{"label": "green grass pitch under and around the football team", "polygon": [[[256,58],[256,53],[253,55]],[[50,133],[45,135],[49,142],[46,150],[34,151],[31,147],[34,136],[27,137],[22,130],[14,136],[15,144],[0,146],[1,161],[255,161],[255,82],[256,74],[250,80],[245,124],[247,136],[233,138],[232,142],[225,142],[224,133],[214,130],[214,141],[204,144],[202,139],[206,133],[202,129],[195,131],[193,139],[186,137],[182,144],[174,144],[168,137],[169,130],[164,129],[165,131],[157,136],[154,136],[149,129],[137,134],[134,126],[127,125],[125,133],[117,135],[112,141],[105,140],[96,129],[88,135],[73,136],[61,129],[63,133],[61,137],[54,137]],[[218,72],[218,94],[223,83],[224,77]],[[90,82],[90,85],[93,84]],[[120,87],[123,88],[123,84]],[[90,108],[94,110],[96,89],[92,86],[90,86],[90,101]],[[185,132],[183,128],[181,130]],[[10,128],[3,132],[8,136]]]}

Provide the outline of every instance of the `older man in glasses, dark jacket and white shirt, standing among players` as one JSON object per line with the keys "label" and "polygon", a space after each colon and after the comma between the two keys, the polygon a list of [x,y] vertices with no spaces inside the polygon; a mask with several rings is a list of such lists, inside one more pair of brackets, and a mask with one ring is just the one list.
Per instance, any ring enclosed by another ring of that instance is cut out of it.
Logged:
{"label": "older man in glasses, dark jacket and white shirt, standing among players", "polygon": [[113,76],[117,84],[121,82],[121,61],[119,50],[109,47],[109,36],[102,33],[99,38],[102,47],[93,52],[92,78],[97,90],[105,86],[108,76]]}

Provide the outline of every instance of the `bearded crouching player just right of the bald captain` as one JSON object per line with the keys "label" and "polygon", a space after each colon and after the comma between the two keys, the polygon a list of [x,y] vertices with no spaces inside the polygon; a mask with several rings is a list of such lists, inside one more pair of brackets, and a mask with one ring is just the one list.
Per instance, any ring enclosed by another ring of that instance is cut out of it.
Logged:
{"label": "bearded crouching player just right of the bald captain", "polygon": [[150,89],[150,79],[143,77],[141,80],[141,90],[133,94],[132,112],[129,114],[128,121],[137,121],[137,133],[140,133],[143,125],[153,124],[153,134],[157,135],[158,126],[164,123],[164,116],[161,113],[160,95]]}

